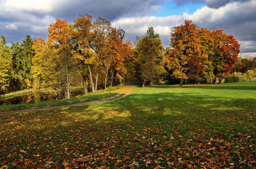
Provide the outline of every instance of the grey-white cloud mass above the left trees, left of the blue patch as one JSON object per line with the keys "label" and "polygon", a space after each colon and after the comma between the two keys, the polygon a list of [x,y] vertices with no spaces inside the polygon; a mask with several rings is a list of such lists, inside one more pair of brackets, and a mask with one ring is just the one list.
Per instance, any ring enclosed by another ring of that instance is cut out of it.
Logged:
{"label": "grey-white cloud mass above the left trees, left of the blue patch", "polygon": [[[165,1],[165,0],[163,0]],[[31,34],[32,37],[47,34],[47,27],[56,18],[73,22],[79,14],[88,13],[113,21],[121,17],[151,15],[159,11],[159,0],[1,0],[0,30],[8,41],[20,41]],[[19,34],[11,31],[17,30]]]}

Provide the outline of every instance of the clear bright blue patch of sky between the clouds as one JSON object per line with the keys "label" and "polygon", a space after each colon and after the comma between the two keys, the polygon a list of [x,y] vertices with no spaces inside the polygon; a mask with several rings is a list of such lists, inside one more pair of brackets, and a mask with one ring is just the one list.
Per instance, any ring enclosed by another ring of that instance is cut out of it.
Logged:
{"label": "clear bright blue patch of sky between the clouds", "polygon": [[205,2],[185,3],[178,5],[175,1],[164,1],[161,10],[154,13],[155,17],[167,17],[170,15],[182,15],[183,13],[193,14],[196,10],[206,6]]}

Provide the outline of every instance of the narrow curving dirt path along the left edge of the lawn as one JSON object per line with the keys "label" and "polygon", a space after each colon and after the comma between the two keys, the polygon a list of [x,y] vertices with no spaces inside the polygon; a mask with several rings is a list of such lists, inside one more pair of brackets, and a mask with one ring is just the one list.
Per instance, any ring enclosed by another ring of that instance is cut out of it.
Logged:
{"label": "narrow curving dirt path along the left edge of the lawn", "polygon": [[0,117],[3,116],[3,115],[20,114],[20,113],[24,113],[24,112],[35,112],[35,111],[41,111],[41,110],[54,110],[54,109],[65,108],[65,107],[81,107],[81,106],[92,105],[92,104],[96,104],[96,103],[104,103],[104,102],[107,102],[107,101],[121,99],[121,98],[124,98],[125,96],[128,96],[133,91],[133,88],[132,87],[125,87],[124,89],[121,89],[120,91],[121,91],[120,93],[118,93],[114,96],[111,96],[109,98],[104,98],[104,99],[98,99],[98,100],[95,100],[95,101],[88,101],[88,102],[83,102],[83,103],[74,103],[74,104],[70,104],[70,105],[61,105],[61,106],[56,106],[56,107],[42,107],[42,108],[32,108],[32,109],[26,109],[26,110],[10,110],[8,112],[0,112]]}

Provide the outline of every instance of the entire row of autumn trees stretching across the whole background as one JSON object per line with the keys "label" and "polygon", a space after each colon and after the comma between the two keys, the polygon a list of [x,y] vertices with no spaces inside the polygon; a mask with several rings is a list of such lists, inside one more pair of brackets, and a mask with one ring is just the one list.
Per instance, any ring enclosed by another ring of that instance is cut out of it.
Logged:
{"label": "entire row of autumn trees stretching across the whole background", "polygon": [[[170,47],[149,27],[132,46],[125,31],[104,18],[80,15],[73,23],[57,19],[49,25],[48,40],[0,43],[0,92],[20,89],[62,89],[83,85],[84,92],[108,86],[160,81],[216,83],[235,71],[253,70],[255,59],[239,58],[239,43],[223,30],[198,28],[190,20],[171,28]],[[249,61],[250,60],[250,61]],[[247,69],[247,70],[246,70]]]}

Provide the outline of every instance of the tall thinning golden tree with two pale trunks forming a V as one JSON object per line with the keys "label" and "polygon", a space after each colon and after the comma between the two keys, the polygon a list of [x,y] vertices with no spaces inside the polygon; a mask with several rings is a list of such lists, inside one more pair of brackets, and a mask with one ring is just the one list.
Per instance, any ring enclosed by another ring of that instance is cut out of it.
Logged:
{"label": "tall thinning golden tree with two pale trunks forming a V", "polygon": [[92,22],[92,16],[80,15],[75,20],[74,27],[76,57],[82,61],[82,64],[88,66],[92,92],[95,92],[98,87],[99,73],[108,58],[106,43],[108,43],[107,36],[111,31],[111,24],[104,18],[99,17]]}

